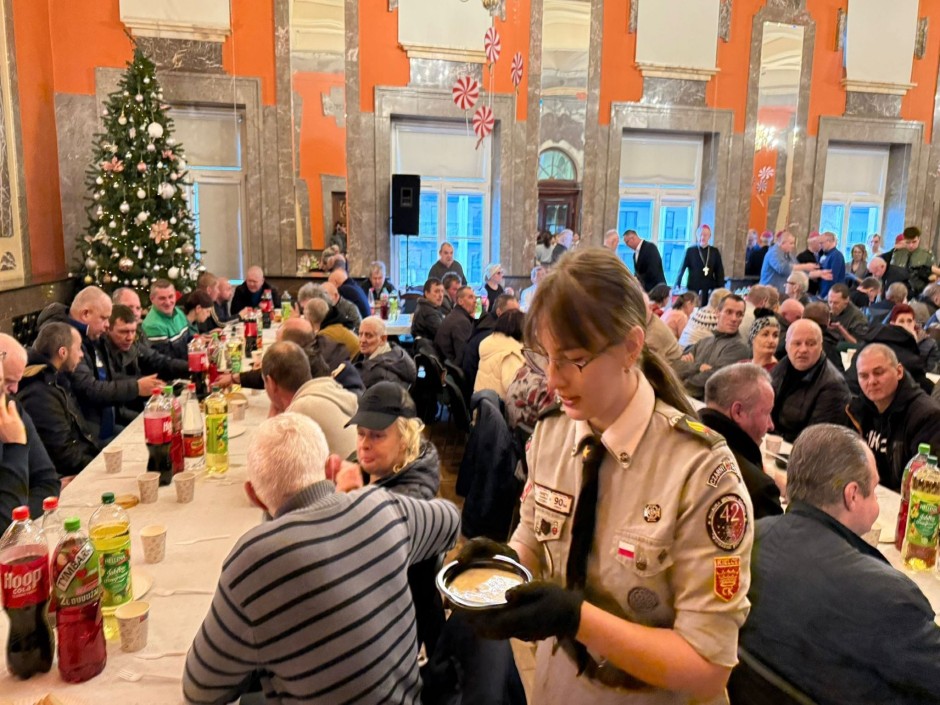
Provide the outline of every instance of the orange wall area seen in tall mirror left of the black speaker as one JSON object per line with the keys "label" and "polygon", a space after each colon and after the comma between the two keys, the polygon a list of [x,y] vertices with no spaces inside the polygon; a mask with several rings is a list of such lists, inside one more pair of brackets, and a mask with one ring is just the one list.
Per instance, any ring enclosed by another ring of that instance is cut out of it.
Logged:
{"label": "orange wall area seen in tall mirror left of the black speaker", "polygon": [[314,249],[320,249],[325,244],[320,175],[346,176],[346,129],[337,127],[335,118],[323,114],[321,94],[343,85],[343,76],[335,73],[294,74],[294,92],[303,99],[300,178],[307,182],[310,200],[308,237]]}

